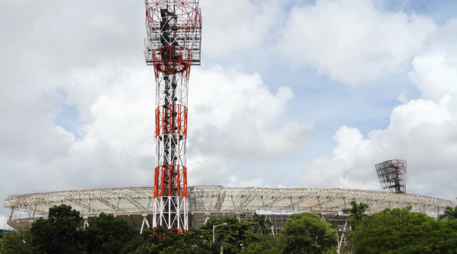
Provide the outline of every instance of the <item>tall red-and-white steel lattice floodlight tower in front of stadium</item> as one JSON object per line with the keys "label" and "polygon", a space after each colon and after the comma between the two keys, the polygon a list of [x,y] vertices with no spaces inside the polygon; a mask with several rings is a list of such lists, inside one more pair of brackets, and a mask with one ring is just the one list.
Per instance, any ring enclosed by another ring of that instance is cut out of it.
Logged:
{"label": "tall red-and-white steel lattice floodlight tower in front of stadium", "polygon": [[187,91],[190,67],[200,65],[198,0],[146,0],[145,58],[156,80],[154,214],[152,227],[187,225]]}

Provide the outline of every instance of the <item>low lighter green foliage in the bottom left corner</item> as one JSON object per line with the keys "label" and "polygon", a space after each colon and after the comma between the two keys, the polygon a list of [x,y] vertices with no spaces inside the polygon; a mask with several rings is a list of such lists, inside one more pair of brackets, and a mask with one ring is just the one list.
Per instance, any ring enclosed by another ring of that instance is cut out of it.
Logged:
{"label": "low lighter green foliage in the bottom left corner", "polygon": [[30,230],[21,229],[18,232],[12,234],[5,234],[0,239],[0,253],[2,254],[16,254],[24,253],[31,254],[30,250]]}

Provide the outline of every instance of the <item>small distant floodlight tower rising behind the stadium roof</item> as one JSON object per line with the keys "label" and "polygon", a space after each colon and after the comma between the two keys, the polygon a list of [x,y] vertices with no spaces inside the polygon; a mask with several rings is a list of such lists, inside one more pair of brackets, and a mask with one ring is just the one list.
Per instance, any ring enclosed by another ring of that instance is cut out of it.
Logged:
{"label": "small distant floodlight tower rising behind the stadium roof", "polygon": [[375,165],[379,182],[390,193],[406,194],[406,161],[390,160]]}

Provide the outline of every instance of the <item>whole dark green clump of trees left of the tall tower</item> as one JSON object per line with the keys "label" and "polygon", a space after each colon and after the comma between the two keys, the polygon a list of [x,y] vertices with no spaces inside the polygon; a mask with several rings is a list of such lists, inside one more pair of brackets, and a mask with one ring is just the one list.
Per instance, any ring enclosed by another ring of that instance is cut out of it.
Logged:
{"label": "whole dark green clump of trees left of the tall tower", "polygon": [[71,206],[49,208],[47,219],[0,240],[0,253],[120,253],[138,233],[112,214],[93,217],[87,229],[78,228],[82,217]]}

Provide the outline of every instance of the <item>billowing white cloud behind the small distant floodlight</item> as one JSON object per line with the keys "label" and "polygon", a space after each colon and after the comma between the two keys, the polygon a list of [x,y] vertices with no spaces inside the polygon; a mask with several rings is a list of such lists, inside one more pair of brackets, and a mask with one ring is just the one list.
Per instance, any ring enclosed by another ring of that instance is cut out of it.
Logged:
{"label": "billowing white cloud behind the small distant floodlight", "polygon": [[438,104],[418,99],[397,106],[388,128],[371,131],[368,139],[363,139],[357,129],[342,126],[334,136],[337,147],[332,156],[308,163],[301,183],[379,189],[374,164],[401,159],[407,161],[408,193],[452,199],[457,186],[452,180],[457,152],[456,110],[457,93],[453,92]]}

